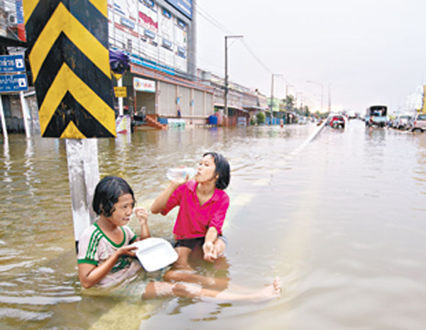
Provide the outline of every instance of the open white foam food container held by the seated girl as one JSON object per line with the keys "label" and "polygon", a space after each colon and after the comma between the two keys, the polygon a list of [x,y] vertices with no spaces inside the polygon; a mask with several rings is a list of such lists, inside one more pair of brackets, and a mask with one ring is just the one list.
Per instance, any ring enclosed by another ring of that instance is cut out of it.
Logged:
{"label": "open white foam food container held by the seated girl", "polygon": [[137,246],[136,257],[147,272],[154,272],[178,260],[173,246],[163,238],[150,237],[132,244]]}

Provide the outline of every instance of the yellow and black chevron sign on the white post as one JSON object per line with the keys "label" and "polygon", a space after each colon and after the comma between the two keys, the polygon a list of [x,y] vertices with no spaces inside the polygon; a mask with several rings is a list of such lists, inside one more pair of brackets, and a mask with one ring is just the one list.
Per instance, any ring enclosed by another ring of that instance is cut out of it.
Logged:
{"label": "yellow and black chevron sign on the white post", "polygon": [[116,136],[107,0],[23,0],[43,137]]}

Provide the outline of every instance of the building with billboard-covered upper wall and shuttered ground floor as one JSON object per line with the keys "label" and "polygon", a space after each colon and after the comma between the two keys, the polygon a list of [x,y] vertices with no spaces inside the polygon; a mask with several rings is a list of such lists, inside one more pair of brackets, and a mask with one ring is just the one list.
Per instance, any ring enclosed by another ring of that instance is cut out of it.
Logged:
{"label": "building with billboard-covered upper wall and shuttered ground floor", "polygon": [[[196,82],[194,0],[109,0],[110,48],[129,55],[124,109],[205,123],[213,89]],[[117,102],[116,102],[117,103]]]}

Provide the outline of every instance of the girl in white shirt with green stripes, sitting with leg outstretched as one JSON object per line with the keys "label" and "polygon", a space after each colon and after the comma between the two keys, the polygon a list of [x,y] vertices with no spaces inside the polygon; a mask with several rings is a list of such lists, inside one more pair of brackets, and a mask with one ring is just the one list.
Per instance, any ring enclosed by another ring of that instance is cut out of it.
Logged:
{"label": "girl in white shirt with green stripes, sitting with leg outstretched", "polygon": [[[142,266],[136,260],[133,241],[151,236],[148,214],[136,209],[141,225],[141,236],[137,237],[128,226],[135,197],[133,189],[121,177],[107,176],[100,180],[94,192],[92,207],[98,215],[97,221],[89,226],[79,239],[78,276],[82,287],[102,287],[119,297],[151,299],[156,297],[209,298],[218,301],[264,301],[280,295],[280,279],[262,290],[249,293],[221,292],[190,283],[164,282],[160,279],[140,280],[137,273]],[[167,273],[166,273],[167,275]],[[170,277],[169,277],[170,278]],[[182,277],[187,282],[200,282],[200,276]]]}

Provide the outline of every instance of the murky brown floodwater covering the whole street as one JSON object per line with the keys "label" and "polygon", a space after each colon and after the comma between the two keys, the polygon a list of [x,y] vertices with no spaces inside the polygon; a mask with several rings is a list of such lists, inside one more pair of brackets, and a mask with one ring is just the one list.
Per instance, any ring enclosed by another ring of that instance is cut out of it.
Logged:
{"label": "murky brown floodwater covering the whole street", "polygon": [[[425,329],[426,133],[352,120],[305,143],[316,129],[136,131],[98,142],[101,176],[124,177],[146,207],[168,167],[195,165],[207,150],[228,158],[226,260],[195,267],[229,277],[229,290],[280,276],[282,295],[256,304],[84,295],[65,143],[9,136],[0,329]],[[153,236],[172,238],[174,214],[148,219]]]}

